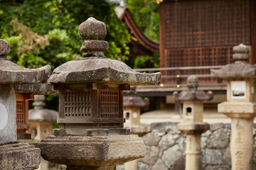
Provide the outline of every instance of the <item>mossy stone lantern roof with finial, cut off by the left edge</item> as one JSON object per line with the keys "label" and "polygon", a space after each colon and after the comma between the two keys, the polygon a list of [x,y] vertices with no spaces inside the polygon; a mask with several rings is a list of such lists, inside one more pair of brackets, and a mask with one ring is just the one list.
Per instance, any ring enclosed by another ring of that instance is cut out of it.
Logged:
{"label": "mossy stone lantern roof with finial, cut off by the left edge", "polygon": [[46,82],[50,65],[38,69],[25,69],[5,57],[11,52],[9,42],[0,39],[0,84],[37,84]]}

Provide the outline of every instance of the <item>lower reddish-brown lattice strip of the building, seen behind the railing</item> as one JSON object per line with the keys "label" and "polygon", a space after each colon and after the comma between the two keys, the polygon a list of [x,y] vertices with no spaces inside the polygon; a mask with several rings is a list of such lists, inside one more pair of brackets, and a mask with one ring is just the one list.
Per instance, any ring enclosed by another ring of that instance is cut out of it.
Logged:
{"label": "lower reddish-brown lattice strip of the building, seen behind the railing", "polygon": [[[166,67],[196,67],[215,66],[233,63],[233,46],[228,47],[198,47],[166,50]],[[171,70],[166,75],[210,74],[210,69]],[[186,83],[186,78],[180,78]],[[217,79],[201,77],[201,81],[213,82]],[[169,83],[176,83],[176,78],[166,79]]]}

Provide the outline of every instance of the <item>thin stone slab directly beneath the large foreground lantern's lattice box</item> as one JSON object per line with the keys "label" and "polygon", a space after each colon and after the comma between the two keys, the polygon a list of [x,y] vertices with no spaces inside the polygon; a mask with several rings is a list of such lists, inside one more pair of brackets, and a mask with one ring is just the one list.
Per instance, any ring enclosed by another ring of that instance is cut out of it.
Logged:
{"label": "thin stone slab directly beneath the large foreground lantern's lattice box", "polygon": [[109,135],[129,135],[130,130],[126,128],[113,129],[54,129],[53,135],[77,135],[77,136],[109,136]]}

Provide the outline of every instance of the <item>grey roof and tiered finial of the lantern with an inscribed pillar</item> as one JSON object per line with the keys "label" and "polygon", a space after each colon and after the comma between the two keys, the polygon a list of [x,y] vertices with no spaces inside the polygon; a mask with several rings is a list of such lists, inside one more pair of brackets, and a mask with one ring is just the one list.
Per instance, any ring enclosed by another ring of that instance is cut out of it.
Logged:
{"label": "grey roof and tiered finial of the lantern with an inscribed pillar", "polygon": [[223,79],[256,77],[255,65],[248,63],[250,59],[250,47],[240,44],[233,47],[233,52],[233,60],[235,60],[235,63],[227,64],[221,69],[210,69],[210,74],[213,77],[220,77]]}

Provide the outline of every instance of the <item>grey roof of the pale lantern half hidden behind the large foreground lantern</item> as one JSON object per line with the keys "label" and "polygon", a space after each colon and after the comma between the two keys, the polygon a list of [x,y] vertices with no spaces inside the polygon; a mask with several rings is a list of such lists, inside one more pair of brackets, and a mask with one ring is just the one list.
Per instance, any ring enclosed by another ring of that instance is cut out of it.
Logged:
{"label": "grey roof of the pale lantern half hidden behind the large foreground lantern", "polygon": [[143,108],[149,106],[149,98],[143,99],[141,96],[134,96],[136,93],[136,86],[132,86],[131,90],[124,96],[124,107],[139,107]]}

